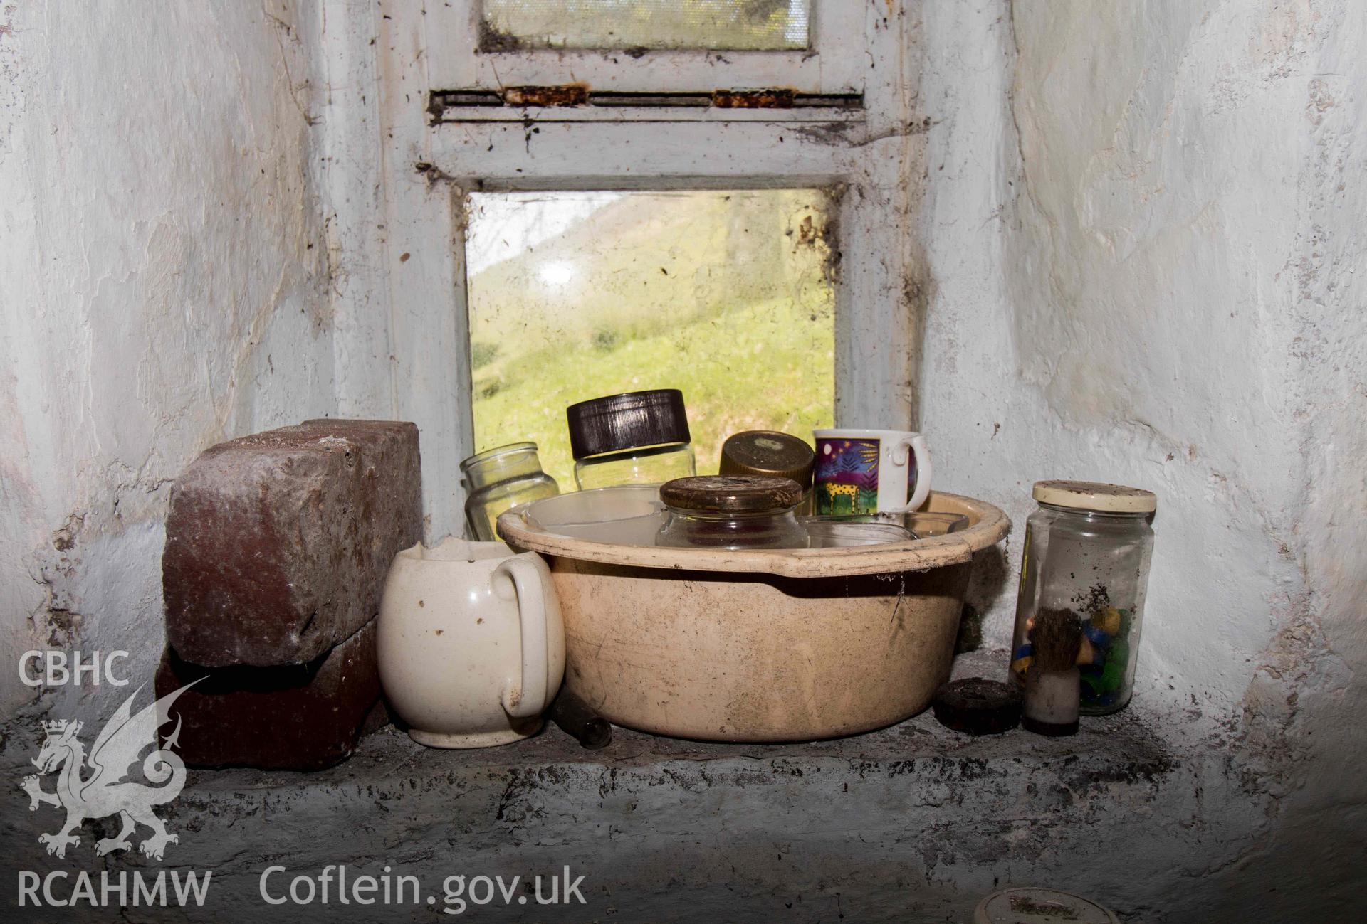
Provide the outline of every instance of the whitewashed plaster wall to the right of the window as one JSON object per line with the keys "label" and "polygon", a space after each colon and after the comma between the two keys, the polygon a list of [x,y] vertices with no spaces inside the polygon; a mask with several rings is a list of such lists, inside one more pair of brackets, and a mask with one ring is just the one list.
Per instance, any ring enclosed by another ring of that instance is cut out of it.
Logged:
{"label": "whitewashed plaster wall to the right of the window", "polygon": [[[1245,841],[1174,869],[1236,919],[1362,898],[1367,8],[923,16],[938,483],[1012,515],[1006,573],[1036,479],[1156,491],[1136,703],[1195,719],[1177,753],[1229,753],[1258,807]],[[990,646],[1013,591],[976,588]]]}

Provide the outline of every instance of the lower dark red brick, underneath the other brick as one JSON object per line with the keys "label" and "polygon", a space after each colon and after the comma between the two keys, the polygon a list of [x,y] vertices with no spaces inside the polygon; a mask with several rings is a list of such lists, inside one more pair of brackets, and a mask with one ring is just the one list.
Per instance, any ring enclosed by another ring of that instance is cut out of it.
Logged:
{"label": "lower dark red brick, underneath the other brick", "polygon": [[157,696],[198,680],[171,707],[190,767],[321,770],[349,757],[377,717],[375,620],[309,665],[202,667],[167,650]]}

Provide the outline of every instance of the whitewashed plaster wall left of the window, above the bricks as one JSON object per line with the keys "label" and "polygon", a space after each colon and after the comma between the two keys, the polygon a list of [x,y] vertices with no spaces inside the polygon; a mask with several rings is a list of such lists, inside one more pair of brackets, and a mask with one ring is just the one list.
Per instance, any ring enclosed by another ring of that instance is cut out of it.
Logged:
{"label": "whitewashed plaster wall left of the window, above the bricks", "polygon": [[0,7],[7,706],[33,647],[128,650],[150,677],[170,480],[336,408],[297,7]]}

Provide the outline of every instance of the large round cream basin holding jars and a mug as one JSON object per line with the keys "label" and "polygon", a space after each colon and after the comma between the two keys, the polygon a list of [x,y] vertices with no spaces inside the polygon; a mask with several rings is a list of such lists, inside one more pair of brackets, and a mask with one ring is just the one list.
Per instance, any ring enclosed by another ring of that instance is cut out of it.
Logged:
{"label": "large round cream basin holding jars and a mug", "polygon": [[[500,516],[499,534],[551,564],[566,687],[617,725],[686,738],[824,738],[921,711],[949,678],[973,554],[1010,530],[991,504],[934,491],[927,508],[968,516],[966,530],[845,549],[659,549],[645,545],[656,490],[547,498]],[[622,517],[626,539],[607,523]]]}

